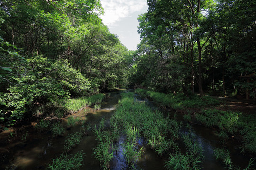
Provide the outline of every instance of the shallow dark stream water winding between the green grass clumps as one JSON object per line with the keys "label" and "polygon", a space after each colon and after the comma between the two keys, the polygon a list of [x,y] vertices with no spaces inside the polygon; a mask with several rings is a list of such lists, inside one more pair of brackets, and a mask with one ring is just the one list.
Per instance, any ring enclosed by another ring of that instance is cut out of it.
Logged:
{"label": "shallow dark stream water winding between the green grass clumps", "polygon": [[[106,93],[106,99],[101,104],[101,109],[94,111],[93,108],[81,110],[73,117],[79,117],[85,120],[87,125],[92,128],[87,135],[84,135],[79,145],[73,148],[68,154],[75,154],[78,151],[83,150],[86,153],[84,157],[84,166],[81,170],[101,170],[100,162],[97,161],[92,155],[93,148],[96,147],[97,141],[94,136],[93,127],[97,126],[102,118],[105,119],[105,125],[110,126],[110,117],[114,113],[118,100],[121,98],[120,94],[128,92],[128,90],[120,90],[117,92]],[[146,102],[151,109],[160,110],[165,116],[174,116],[175,112],[170,112],[161,108],[158,108],[152,101],[143,99],[139,95],[135,94],[134,100],[137,102]],[[182,121],[183,125],[187,122],[184,121],[183,116],[177,114],[178,121]],[[63,119],[63,126],[67,127],[67,118]],[[225,170],[224,165],[220,161],[216,161],[213,155],[213,149],[223,147],[219,142],[218,137],[214,135],[214,129],[207,128],[197,124],[191,124],[195,137],[203,149],[204,160],[202,170]],[[27,125],[25,130],[28,133],[25,141],[20,140],[20,136],[15,139],[8,140],[8,131],[0,134],[0,170],[42,170],[45,169],[51,159],[59,157],[64,151],[65,137],[69,133],[77,132],[81,128],[80,125],[72,127],[67,130],[63,137],[53,138],[50,132],[37,133],[33,124]],[[24,133],[24,132],[23,132]],[[181,133],[186,133],[184,128],[181,128]],[[115,152],[115,157],[110,164],[110,170],[126,170],[127,165],[122,155],[122,146],[125,136],[119,139],[119,150]],[[139,140],[139,145],[143,145],[144,152],[142,157],[137,161],[137,168],[143,170],[166,170],[164,168],[168,153],[162,157],[157,156],[157,153],[146,145],[146,141]],[[182,146],[182,145],[181,145]],[[242,169],[246,168],[249,163],[249,157],[243,156],[239,151],[239,146],[235,144],[233,140],[229,140],[226,144],[226,148],[231,153],[232,162],[240,166]],[[181,148],[184,149],[184,148]]]}

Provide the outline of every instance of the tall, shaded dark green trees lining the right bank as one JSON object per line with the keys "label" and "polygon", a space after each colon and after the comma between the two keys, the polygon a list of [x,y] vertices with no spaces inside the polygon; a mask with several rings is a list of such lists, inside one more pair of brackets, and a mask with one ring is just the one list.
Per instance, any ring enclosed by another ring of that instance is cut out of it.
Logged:
{"label": "tall, shaded dark green trees lining the right bank", "polygon": [[[147,0],[130,81],[187,96],[256,88],[256,2]],[[246,78],[247,77],[247,78]],[[251,94],[251,93],[250,93]]]}

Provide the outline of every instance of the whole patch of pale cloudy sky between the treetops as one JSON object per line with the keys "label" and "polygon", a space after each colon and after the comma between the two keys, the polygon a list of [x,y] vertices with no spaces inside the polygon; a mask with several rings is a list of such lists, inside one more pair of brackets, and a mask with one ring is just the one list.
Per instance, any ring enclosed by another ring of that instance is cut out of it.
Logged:
{"label": "whole patch of pale cloudy sky between the treetops", "polygon": [[128,50],[136,50],[140,43],[137,18],[147,12],[146,0],[101,0],[101,4],[104,15],[100,17],[110,33],[117,35]]}

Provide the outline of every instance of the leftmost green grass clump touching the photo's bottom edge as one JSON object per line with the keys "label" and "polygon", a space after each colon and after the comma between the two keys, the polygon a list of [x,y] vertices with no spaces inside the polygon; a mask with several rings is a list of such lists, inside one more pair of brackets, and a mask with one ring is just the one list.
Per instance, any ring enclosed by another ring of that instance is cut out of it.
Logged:
{"label": "leftmost green grass clump touching the photo's bottom edge", "polygon": [[74,155],[61,154],[60,157],[52,159],[46,170],[80,170],[83,165],[85,153],[82,150]]}

